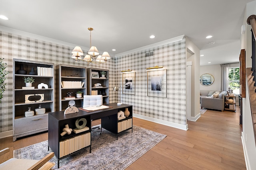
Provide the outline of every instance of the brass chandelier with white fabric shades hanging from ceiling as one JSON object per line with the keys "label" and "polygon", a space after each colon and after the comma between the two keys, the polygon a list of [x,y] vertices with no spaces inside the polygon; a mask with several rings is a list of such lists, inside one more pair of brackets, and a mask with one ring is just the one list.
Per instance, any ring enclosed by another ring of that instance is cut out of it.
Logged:
{"label": "brass chandelier with white fabric shades hanging from ceiling", "polygon": [[[82,55],[84,55],[81,47],[76,46],[73,51],[72,51],[72,58],[75,59],[77,62],[79,61],[85,61],[87,65],[90,63],[98,64],[100,65],[101,63],[106,63],[108,59],[111,59],[110,55],[108,52],[103,52],[102,55],[99,55],[99,51],[95,46],[92,46],[92,30],[93,28],[89,27],[88,30],[90,31],[90,49],[88,51],[88,54],[85,55],[84,59],[82,59]],[[97,57],[98,56],[98,57]]]}

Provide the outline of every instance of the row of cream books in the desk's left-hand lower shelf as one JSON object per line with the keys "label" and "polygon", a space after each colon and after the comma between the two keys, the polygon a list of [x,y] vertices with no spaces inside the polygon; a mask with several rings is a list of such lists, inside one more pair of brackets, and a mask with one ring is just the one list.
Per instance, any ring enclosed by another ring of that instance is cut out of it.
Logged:
{"label": "row of cream books in the desk's left-hand lower shelf", "polygon": [[76,150],[83,149],[91,145],[91,133],[84,133],[74,137],[60,141],[60,155],[59,157],[66,156],[75,152]]}

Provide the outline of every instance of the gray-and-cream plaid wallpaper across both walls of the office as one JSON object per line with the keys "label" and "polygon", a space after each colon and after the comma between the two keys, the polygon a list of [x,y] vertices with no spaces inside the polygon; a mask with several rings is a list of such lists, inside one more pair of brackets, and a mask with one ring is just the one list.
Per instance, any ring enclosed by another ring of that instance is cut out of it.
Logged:
{"label": "gray-and-cream plaid wallpaper across both walls of the office", "polygon": [[[0,31],[0,57],[4,58],[4,62],[8,66],[7,71],[10,72],[6,79],[6,90],[2,103],[0,103],[0,132],[12,130],[13,58],[54,63],[55,68],[58,64],[70,64],[85,66],[86,68],[108,69],[110,77],[110,103],[117,102],[118,100],[118,93],[112,89],[114,86],[122,84],[122,74],[120,71],[132,69],[136,72],[136,95],[121,94],[122,102],[133,105],[134,113],[182,125],[186,124],[185,39],[118,57],[117,59],[112,58],[106,64],[101,64],[101,66],[96,64],[87,66],[84,62],[75,63],[74,59],[71,58],[73,48]],[[154,51],[154,57],[145,57],[145,53],[148,51]],[[147,96],[146,68],[156,65],[164,66],[167,69],[167,98]]]}

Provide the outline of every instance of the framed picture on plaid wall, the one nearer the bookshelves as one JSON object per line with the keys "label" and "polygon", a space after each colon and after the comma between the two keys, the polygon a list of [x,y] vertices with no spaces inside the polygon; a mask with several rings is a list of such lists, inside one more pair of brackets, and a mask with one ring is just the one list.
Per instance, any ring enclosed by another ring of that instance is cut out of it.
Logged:
{"label": "framed picture on plaid wall, the one nearer the bookshelves", "polygon": [[122,74],[123,94],[135,95],[135,72]]}

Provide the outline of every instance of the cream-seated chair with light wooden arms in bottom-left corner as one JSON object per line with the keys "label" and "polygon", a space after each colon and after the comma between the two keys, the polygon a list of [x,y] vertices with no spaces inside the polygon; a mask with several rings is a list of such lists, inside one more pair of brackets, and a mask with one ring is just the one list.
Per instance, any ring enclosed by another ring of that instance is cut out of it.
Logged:
{"label": "cream-seated chair with light wooden arms in bottom-left corner", "polygon": [[[9,152],[10,148],[0,150],[0,156]],[[1,170],[50,170],[55,165],[48,162],[54,156],[54,152],[50,152],[41,160],[10,158],[0,164]]]}

